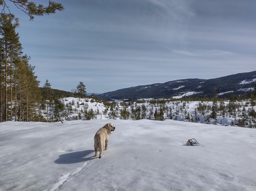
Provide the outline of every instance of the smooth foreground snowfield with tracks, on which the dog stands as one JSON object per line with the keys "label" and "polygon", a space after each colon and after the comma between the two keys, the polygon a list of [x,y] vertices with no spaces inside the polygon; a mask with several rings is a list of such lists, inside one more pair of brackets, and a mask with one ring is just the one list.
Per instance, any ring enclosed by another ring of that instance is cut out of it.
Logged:
{"label": "smooth foreground snowfield with tracks, on which the dog stands", "polygon": [[[116,130],[103,157],[93,137]],[[198,146],[185,146],[195,138]],[[0,123],[0,191],[255,191],[256,129],[174,120]]]}

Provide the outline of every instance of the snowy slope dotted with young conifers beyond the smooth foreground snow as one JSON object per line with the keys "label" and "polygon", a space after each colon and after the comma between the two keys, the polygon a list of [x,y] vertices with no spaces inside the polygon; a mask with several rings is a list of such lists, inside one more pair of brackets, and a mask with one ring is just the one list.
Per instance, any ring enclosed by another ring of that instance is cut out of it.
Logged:
{"label": "snowy slope dotted with young conifers beyond the smooth foreground snow", "polygon": [[[215,125],[230,125],[231,122],[236,124],[239,119],[246,118],[245,127],[254,128],[255,117],[250,117],[250,111],[255,111],[254,102],[253,100],[217,102],[216,119],[214,120],[213,118],[209,118],[212,113],[212,102],[141,99],[138,103],[124,103],[122,100],[113,100],[114,104],[110,106],[91,98],[67,97],[61,99],[64,110],[59,113],[58,119],[62,121],[79,119],[124,119],[122,111],[125,109],[128,113],[128,117],[125,119],[136,120],[134,115],[139,115],[139,119],[155,120],[155,112],[160,113],[162,109],[163,120],[172,119]],[[221,104],[223,105],[221,106]],[[145,111],[143,111],[143,107]],[[244,112],[243,108],[245,109]],[[49,118],[52,117],[52,121],[56,121],[54,118],[54,108],[50,110],[51,116]],[[143,112],[144,117],[142,117]],[[46,112],[44,111],[44,113],[44,117],[46,117]]]}

